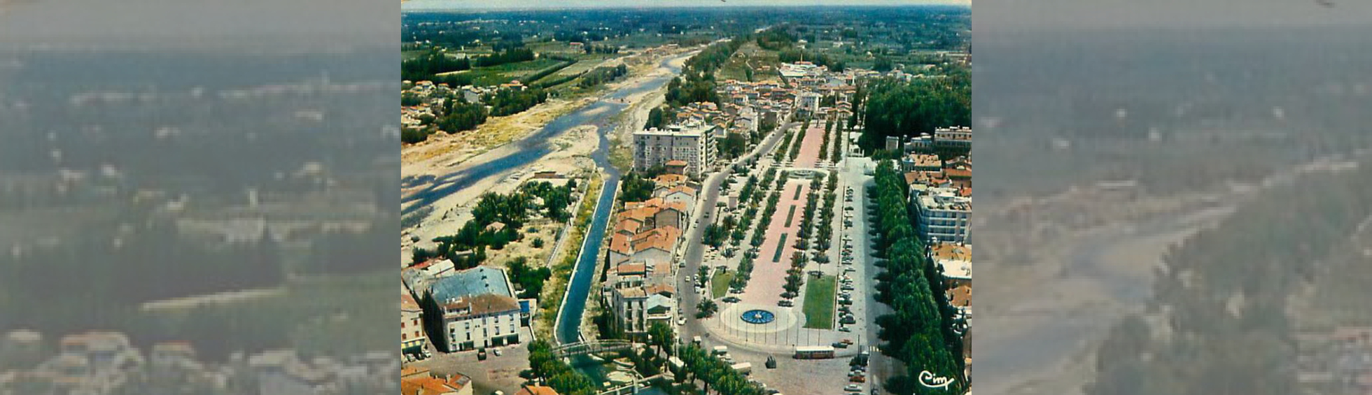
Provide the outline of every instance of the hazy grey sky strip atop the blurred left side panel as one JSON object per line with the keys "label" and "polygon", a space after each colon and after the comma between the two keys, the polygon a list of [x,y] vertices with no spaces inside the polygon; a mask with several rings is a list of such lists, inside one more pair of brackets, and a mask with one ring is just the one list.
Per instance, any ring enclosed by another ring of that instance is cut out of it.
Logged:
{"label": "hazy grey sky strip atop the blurred left side panel", "polygon": [[[0,0],[0,44],[399,43],[391,0]],[[276,37],[262,40],[255,37]],[[344,37],[347,37],[344,40]]]}

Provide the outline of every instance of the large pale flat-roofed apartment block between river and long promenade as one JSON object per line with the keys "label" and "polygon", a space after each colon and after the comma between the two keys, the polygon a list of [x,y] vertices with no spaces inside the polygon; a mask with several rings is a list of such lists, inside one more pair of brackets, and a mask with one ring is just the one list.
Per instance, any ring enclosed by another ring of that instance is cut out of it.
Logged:
{"label": "large pale flat-roofed apartment block between river and long promenade", "polygon": [[685,160],[686,176],[700,176],[715,162],[715,129],[705,123],[671,125],[634,133],[634,170],[646,170],[668,160]]}

